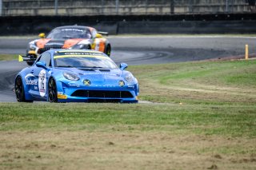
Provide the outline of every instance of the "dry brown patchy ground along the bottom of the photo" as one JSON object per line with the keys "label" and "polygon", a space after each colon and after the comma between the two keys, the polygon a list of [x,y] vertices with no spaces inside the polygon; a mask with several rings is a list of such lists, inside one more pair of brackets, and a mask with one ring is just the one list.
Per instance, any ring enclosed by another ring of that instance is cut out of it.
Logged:
{"label": "dry brown patchy ground along the bottom of the photo", "polygon": [[253,169],[256,159],[254,139],[87,131],[0,136],[0,169]]}

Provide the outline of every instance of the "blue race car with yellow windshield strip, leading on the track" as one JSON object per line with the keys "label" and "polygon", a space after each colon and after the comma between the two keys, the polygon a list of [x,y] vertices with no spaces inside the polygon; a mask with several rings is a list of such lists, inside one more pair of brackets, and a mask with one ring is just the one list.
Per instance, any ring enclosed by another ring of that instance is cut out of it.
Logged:
{"label": "blue race car with yellow windshield strip, leading on the track", "polygon": [[[19,56],[19,61],[34,57]],[[105,53],[82,49],[50,49],[15,78],[19,102],[138,102],[138,81]]]}

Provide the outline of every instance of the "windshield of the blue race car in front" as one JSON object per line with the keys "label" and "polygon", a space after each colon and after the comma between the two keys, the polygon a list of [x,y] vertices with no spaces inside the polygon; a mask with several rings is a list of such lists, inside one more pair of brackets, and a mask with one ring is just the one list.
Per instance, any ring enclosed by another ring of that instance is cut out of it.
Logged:
{"label": "windshield of the blue race car in front", "polygon": [[118,65],[107,57],[58,57],[54,59],[55,67],[74,67],[78,69],[117,69]]}

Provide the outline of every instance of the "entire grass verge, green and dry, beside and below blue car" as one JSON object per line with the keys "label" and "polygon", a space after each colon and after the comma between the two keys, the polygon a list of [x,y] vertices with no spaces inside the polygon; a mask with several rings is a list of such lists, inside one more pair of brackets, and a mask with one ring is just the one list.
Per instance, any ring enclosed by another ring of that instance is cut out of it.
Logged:
{"label": "entire grass verge, green and dry, beside and below blue car", "polygon": [[0,104],[0,168],[255,169],[256,61],[130,66],[153,104]]}

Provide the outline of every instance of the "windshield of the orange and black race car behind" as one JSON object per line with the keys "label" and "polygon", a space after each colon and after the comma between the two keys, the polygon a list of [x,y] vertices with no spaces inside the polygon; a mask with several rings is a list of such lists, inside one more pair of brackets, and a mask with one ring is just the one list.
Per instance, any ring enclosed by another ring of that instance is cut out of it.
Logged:
{"label": "windshield of the orange and black race car behind", "polygon": [[90,34],[90,30],[56,29],[56,30],[52,30],[46,38],[51,38],[51,39],[91,38],[91,34]]}

